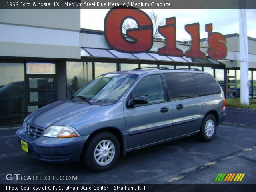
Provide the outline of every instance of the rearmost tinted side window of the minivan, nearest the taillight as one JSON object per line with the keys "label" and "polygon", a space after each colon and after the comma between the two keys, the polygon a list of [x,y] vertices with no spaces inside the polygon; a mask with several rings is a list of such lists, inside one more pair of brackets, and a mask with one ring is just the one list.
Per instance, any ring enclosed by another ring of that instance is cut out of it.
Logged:
{"label": "rearmost tinted side window of the minivan, nearest the taillight", "polygon": [[218,82],[216,82],[216,80],[211,75],[203,73],[192,74],[196,80],[200,96],[216,94],[221,92]]}

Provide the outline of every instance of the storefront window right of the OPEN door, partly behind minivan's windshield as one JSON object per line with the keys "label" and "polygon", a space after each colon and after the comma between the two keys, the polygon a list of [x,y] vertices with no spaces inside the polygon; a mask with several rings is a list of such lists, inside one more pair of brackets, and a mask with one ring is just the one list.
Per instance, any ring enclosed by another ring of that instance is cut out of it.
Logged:
{"label": "storefront window right of the OPEN door, partly behind minivan's windshield", "polygon": [[67,62],[68,97],[92,79],[92,62]]}

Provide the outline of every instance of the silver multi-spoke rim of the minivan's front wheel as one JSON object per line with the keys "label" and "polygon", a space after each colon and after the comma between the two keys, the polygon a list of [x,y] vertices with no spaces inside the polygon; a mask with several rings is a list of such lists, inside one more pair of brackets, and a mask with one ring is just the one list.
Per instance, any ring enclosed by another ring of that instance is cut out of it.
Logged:
{"label": "silver multi-spoke rim of the minivan's front wheel", "polygon": [[94,150],[94,159],[99,165],[108,165],[115,156],[115,146],[110,140],[103,140],[98,143]]}

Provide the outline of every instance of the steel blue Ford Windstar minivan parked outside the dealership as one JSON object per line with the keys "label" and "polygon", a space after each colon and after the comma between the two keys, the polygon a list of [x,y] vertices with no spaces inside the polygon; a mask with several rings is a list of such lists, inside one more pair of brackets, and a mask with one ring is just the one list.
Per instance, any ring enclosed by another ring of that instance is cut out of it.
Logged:
{"label": "steel blue Ford Windstar minivan parked outside the dealership", "polygon": [[140,68],[97,77],[28,115],[16,134],[34,158],[82,160],[100,172],[138,148],[191,134],[210,141],[225,116],[223,91],[210,74]]}

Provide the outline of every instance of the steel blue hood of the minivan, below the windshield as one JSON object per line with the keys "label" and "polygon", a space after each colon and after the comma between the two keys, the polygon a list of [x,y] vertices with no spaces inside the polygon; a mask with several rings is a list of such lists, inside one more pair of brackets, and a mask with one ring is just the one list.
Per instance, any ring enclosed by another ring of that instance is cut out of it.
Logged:
{"label": "steel blue hood of the minivan, below the windshield", "polygon": [[26,122],[42,128],[48,128],[50,125],[65,125],[70,117],[79,118],[85,115],[85,111],[98,107],[100,106],[66,99],[36,110],[26,118]]}

